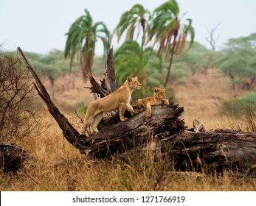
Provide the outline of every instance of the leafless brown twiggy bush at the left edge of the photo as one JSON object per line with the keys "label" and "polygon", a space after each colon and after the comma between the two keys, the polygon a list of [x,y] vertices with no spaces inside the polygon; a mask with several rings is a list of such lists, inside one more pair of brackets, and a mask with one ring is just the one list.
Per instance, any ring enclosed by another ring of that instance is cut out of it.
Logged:
{"label": "leafless brown twiggy bush at the left edge of the photo", "polygon": [[[21,60],[0,54],[0,141],[10,142],[33,135],[39,128],[31,77]],[[41,127],[40,127],[41,129]]]}

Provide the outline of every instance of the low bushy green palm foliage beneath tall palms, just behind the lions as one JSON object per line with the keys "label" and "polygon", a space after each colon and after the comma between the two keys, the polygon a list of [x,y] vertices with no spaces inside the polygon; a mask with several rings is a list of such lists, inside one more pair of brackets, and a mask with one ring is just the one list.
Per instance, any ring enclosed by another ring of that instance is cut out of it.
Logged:
{"label": "low bushy green palm foliage beneath tall palms, just behind the lions", "polygon": [[137,76],[142,83],[142,93],[152,93],[153,86],[162,85],[162,59],[156,57],[152,49],[144,49],[141,54],[139,43],[127,40],[114,52],[114,63],[120,85],[128,76]]}

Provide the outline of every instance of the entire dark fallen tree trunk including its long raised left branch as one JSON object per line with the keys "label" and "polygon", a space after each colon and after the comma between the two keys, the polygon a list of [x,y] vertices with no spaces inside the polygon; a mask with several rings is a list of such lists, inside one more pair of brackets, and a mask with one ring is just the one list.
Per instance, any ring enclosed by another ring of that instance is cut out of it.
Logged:
{"label": "entire dark fallen tree trunk including its long raised left branch", "polygon": [[[125,154],[138,143],[147,143],[153,139],[160,144],[156,147],[161,148],[165,156],[173,159],[176,169],[219,172],[228,168],[245,174],[249,168],[255,168],[255,134],[224,129],[209,132],[187,131],[184,121],[179,119],[184,108],[173,104],[171,99],[170,105],[153,107],[151,118],[145,118],[145,111],[133,117],[125,113],[128,120],[121,122],[117,113],[101,122],[100,132],[86,138],[60,113],[32,65],[20,48],[18,51],[35,79],[35,88],[39,96],[46,103],[49,113],[58,122],[64,137],[82,153],[94,157],[112,157],[117,153]],[[107,88],[103,89],[108,91]]]}

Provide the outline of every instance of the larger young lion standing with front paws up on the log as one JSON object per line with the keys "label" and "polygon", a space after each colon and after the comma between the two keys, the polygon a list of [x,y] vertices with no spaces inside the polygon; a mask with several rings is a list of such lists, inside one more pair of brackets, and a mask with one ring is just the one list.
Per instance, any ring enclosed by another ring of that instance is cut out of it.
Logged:
{"label": "larger young lion standing with front paws up on the log", "polygon": [[85,134],[86,131],[88,131],[87,129],[89,129],[89,133],[91,133],[90,129],[92,129],[92,133],[98,132],[97,125],[103,118],[103,113],[111,112],[119,108],[121,121],[127,119],[124,116],[125,109],[130,113],[136,113],[130,104],[131,93],[133,93],[135,89],[141,88],[141,86],[137,77],[127,77],[126,81],[118,90],[108,94],[108,96],[104,96],[102,99],[90,102],[86,110],[82,133]]}

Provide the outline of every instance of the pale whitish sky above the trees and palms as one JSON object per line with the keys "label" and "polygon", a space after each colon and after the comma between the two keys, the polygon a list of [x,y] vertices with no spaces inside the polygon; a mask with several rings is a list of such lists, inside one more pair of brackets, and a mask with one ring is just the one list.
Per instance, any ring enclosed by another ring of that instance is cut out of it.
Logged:
{"label": "pale whitish sky above the trees and palms", "polygon": [[[113,32],[122,13],[134,4],[142,4],[151,12],[167,0],[0,0],[1,50],[13,51],[18,46],[24,51],[47,54],[52,49],[64,50],[65,33],[87,8],[94,23],[103,21]],[[180,15],[193,19],[196,41],[210,48],[207,29],[216,25],[217,49],[229,38],[248,36],[256,32],[256,0],[177,0]],[[112,42],[114,49],[116,38]],[[103,54],[100,40],[96,54]]]}

